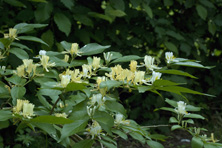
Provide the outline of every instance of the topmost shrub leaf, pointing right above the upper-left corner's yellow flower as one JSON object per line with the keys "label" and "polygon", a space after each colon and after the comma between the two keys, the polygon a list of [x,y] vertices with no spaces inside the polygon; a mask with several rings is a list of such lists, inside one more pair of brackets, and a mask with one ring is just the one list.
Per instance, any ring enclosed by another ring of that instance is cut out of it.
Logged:
{"label": "topmost shrub leaf, pointing right above the upper-left corner's yellow flower", "polygon": [[26,33],[34,30],[34,28],[42,28],[47,26],[48,24],[27,24],[27,23],[20,23],[14,26],[17,29],[17,33]]}

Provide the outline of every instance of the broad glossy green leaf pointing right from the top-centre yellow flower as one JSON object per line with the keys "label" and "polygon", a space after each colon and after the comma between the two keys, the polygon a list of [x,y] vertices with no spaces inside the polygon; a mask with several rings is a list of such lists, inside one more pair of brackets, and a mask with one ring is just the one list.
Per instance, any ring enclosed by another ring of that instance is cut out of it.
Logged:
{"label": "broad glossy green leaf pointing right from the top-centre yellow flower", "polygon": [[81,55],[94,55],[102,53],[105,49],[109,48],[110,45],[107,46],[101,46],[97,43],[90,43],[85,46],[83,46],[79,51],[82,52]]}

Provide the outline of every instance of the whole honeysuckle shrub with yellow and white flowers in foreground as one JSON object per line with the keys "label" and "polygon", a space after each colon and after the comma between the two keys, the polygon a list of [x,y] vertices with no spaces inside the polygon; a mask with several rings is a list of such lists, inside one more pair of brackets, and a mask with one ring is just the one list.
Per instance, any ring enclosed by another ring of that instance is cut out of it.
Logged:
{"label": "whole honeysuckle shrub with yellow and white flowers in foreground", "polygon": [[[171,65],[208,68],[194,60],[176,58],[172,52],[165,53],[167,66],[160,67],[152,56],[122,56],[118,52],[104,52],[110,46],[91,43],[80,48],[77,43],[62,41],[63,52],[40,50],[39,55],[30,58],[30,49],[19,43],[20,40],[46,43],[21,34],[43,26],[18,24],[0,39],[0,90],[1,98],[5,99],[1,104],[0,121],[12,122],[17,127],[15,132],[29,127],[34,132],[42,131],[65,147],[90,148],[100,143],[101,147],[113,148],[117,147],[117,137],[131,136],[152,148],[161,148],[162,144],[156,141],[159,139],[152,138],[149,129],[127,119],[119,89],[129,93],[150,91],[161,95],[159,91],[167,91],[181,96],[182,93],[210,96],[161,78],[164,74],[195,78],[170,69]],[[99,57],[100,53],[103,58]],[[15,65],[10,63],[11,54],[19,60]],[[129,62],[129,66],[119,64],[123,62]],[[204,129],[188,126],[194,124],[192,118],[204,119],[188,113],[200,108],[183,101],[166,99],[166,102],[174,109],[161,109],[177,115],[170,118],[170,123],[176,123],[171,129],[188,131],[193,136],[192,147],[222,146],[216,143],[213,134],[209,139],[200,135]]]}

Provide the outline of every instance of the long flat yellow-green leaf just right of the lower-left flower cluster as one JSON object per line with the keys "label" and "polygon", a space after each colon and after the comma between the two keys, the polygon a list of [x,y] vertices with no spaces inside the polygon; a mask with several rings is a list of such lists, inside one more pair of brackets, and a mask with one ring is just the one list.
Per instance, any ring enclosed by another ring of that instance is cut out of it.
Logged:
{"label": "long flat yellow-green leaf just right of the lower-left flower cluster", "polygon": [[50,116],[50,115],[43,115],[36,118],[33,118],[30,120],[31,122],[37,122],[37,123],[49,123],[49,124],[69,124],[74,122],[73,120],[66,119],[63,117],[56,117],[56,116]]}

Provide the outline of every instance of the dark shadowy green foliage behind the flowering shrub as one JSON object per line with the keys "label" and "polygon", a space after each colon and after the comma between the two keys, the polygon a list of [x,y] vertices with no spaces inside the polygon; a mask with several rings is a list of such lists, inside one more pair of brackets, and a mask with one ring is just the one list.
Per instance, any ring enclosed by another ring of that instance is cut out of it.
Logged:
{"label": "dark shadowy green foliage behind the flowering shrub", "polygon": [[[215,95],[215,98],[186,95],[191,104],[203,107],[204,116],[214,121],[221,116],[222,107],[221,11],[221,0],[1,0],[0,31],[3,36],[8,28],[21,22],[48,24],[37,32],[29,32],[49,44],[49,47],[26,44],[32,49],[30,56],[41,49],[61,51],[59,43],[66,40],[80,46],[96,42],[111,45],[111,50],[123,55],[149,54],[161,59],[164,51],[170,50],[177,57],[198,59],[203,65],[216,66],[211,70],[184,69],[198,77],[197,80],[179,76],[167,78]],[[21,64],[16,58],[10,55],[11,65]],[[160,60],[159,63],[161,66]],[[128,97],[128,93],[123,92],[121,101],[128,108],[130,118],[144,124],[165,123],[164,118],[160,119],[162,112],[144,113],[144,110],[163,106],[163,98],[146,93]],[[175,100],[178,98],[174,95]],[[132,104],[135,100],[137,103]]]}

